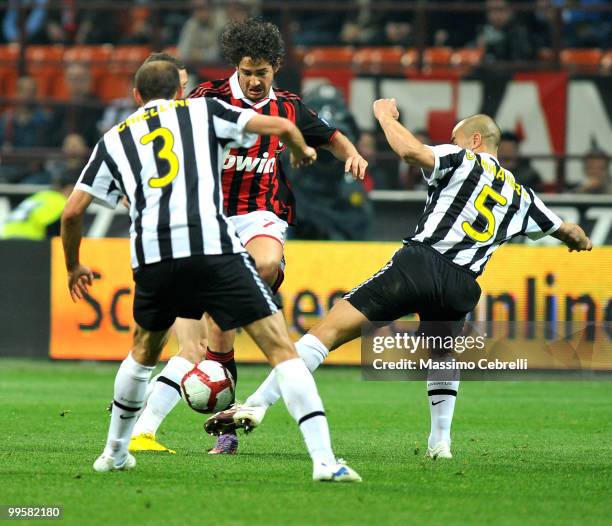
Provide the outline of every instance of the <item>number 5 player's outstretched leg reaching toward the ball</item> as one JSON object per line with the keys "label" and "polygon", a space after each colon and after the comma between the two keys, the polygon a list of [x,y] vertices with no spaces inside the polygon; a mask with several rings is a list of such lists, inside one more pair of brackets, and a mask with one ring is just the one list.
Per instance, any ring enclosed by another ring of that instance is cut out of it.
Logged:
{"label": "number 5 player's outstretched leg reaching toward the ball", "polygon": [[[309,371],[323,363],[330,351],[359,336],[361,326],[367,318],[348,301],[340,300],[308,334],[295,343],[295,348]],[[222,430],[244,427],[251,430],[263,420],[268,407],[281,396],[274,371],[262,382],[244,404],[210,417],[205,429],[217,434]]]}

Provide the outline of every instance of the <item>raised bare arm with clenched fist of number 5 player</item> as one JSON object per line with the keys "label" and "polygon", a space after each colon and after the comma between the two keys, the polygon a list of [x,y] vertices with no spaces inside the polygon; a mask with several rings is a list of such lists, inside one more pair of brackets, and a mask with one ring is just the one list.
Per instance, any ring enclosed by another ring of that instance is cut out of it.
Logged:
{"label": "raised bare arm with clenched fist of number 5 player", "polygon": [[400,124],[395,99],[379,99],[374,102],[373,109],[393,151],[408,164],[433,170],[433,152]]}

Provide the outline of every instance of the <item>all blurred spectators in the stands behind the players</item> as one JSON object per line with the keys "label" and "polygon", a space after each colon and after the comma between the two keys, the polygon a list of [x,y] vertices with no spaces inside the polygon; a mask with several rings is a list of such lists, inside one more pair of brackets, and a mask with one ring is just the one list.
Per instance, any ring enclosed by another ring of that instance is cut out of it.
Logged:
{"label": "all blurred spectators in the stands behind the players", "polygon": [[[219,36],[229,21],[262,15],[281,26],[287,22],[278,10],[266,8],[266,2],[258,0],[192,0],[182,3],[180,9],[165,8],[155,16],[146,0],[133,3],[129,16],[118,16],[117,10],[77,10],[73,0],[51,4],[48,0],[11,0],[8,8],[3,12],[0,9],[0,41],[19,41],[20,27],[25,28],[30,44],[139,45],[155,41],[159,48],[176,46],[178,58],[189,66],[222,62]],[[402,8],[405,2],[395,3],[397,10],[385,11],[374,9],[372,0],[334,0],[331,7],[346,8],[334,10],[333,16],[291,10],[291,39],[301,46],[413,46],[418,29],[416,15]],[[507,0],[483,0],[482,11],[431,11],[425,26],[426,45],[478,47],[485,50],[485,61],[530,60],[539,50],[551,46],[557,12],[552,7],[561,6],[562,45],[612,48],[612,11],[580,9],[608,3],[537,0],[536,11],[514,11]],[[26,6],[21,14],[20,6]],[[83,63],[69,63],[63,75],[66,102],[49,107],[32,102],[38,89],[33,78],[23,76],[17,81],[16,103],[0,110],[0,156],[5,154],[0,162],[0,182],[50,184],[58,173],[78,172],[98,137],[135,109],[127,89],[124,98],[103,103],[95,94],[95,79]],[[417,135],[423,142],[431,142],[425,132]],[[368,159],[375,160],[377,152],[388,151],[384,138],[371,132],[361,133],[358,142]],[[63,155],[45,161],[36,160],[40,156],[30,160],[6,155],[29,148],[60,149]],[[520,150],[520,138],[504,133],[499,154],[502,164],[520,182],[537,190],[550,190],[542,186],[540,175]],[[608,173],[608,158],[595,148],[584,161],[584,183],[557,190],[609,192]],[[372,188],[424,187],[419,170],[381,160],[371,163],[367,189]]]}

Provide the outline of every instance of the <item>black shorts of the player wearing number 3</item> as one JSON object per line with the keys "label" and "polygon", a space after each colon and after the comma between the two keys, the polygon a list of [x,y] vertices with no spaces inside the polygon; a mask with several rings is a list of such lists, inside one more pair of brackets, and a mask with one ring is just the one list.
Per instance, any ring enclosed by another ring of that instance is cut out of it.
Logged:
{"label": "black shorts of the player wearing number 3", "polygon": [[134,319],[149,331],[169,329],[176,318],[199,320],[204,312],[227,331],[278,311],[246,252],[144,265],[134,281]]}

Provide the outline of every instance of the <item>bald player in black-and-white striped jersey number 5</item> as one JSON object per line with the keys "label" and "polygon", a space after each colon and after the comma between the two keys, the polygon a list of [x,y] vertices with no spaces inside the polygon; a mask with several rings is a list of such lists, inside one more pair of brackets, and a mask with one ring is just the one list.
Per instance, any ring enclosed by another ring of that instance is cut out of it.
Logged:
{"label": "bald player in black-and-white striped jersey number 5", "polygon": [[[395,99],[376,101],[374,115],[391,148],[405,162],[423,169],[429,185],[427,202],[403,248],[296,342],[311,371],[329,351],[358,338],[368,321],[390,322],[418,313],[419,333],[457,335],[480,298],[476,278],[495,250],[515,236],[551,235],[570,252],[592,248],[582,228],[564,223],[533,190],[500,166],[496,158],[500,130],[491,117],[468,117],[455,126],[452,144],[430,147],[400,124]],[[450,376],[436,373],[430,371],[427,382],[431,412],[427,454],[452,458],[450,429],[458,371]],[[212,416],[206,428],[219,433],[255,427],[279,396],[276,379],[270,375],[243,406]]]}

